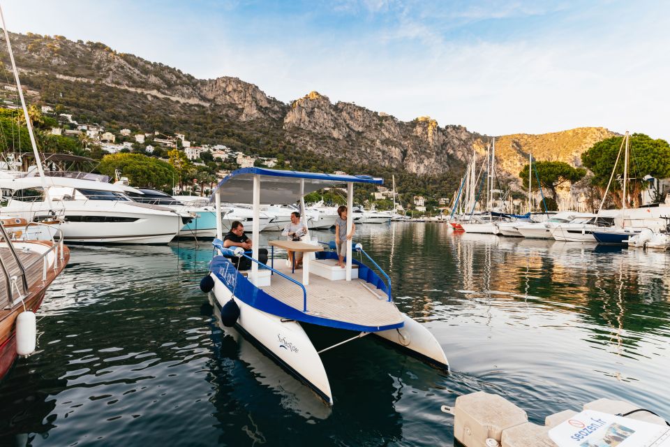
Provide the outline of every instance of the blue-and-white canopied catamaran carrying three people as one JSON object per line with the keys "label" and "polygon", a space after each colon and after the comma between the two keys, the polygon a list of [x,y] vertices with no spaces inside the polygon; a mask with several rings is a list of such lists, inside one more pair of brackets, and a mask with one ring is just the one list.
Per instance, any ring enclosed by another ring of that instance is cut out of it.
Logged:
{"label": "blue-and-white canopied catamaran carrying three people", "polygon": [[[318,242],[292,242],[292,250],[304,252],[302,272],[285,265],[258,261],[261,203],[299,201],[304,216],[304,196],[325,187],[346,184],[348,209],[353,205],[355,183],[382,184],[382,179],[364,175],[301,173],[264,168],[235,170],[219,182],[211,200],[218,214],[217,238],[210,272],[203,291],[213,291],[216,305],[244,335],[265,348],[271,358],[310,386],[328,404],[333,397],[320,354],[365,335],[377,335],[406,353],[440,369],[449,364],[431,332],[401,313],[393,302],[391,279],[366,254],[360,244],[347,241],[346,265],[336,264],[337,254]],[[253,207],[251,252],[241,247],[223,247],[221,203],[248,203]],[[348,213],[347,230],[352,228]],[[270,241],[282,247],[288,242]],[[310,259],[311,252],[314,258]],[[353,258],[359,252],[369,266]],[[239,272],[233,256],[250,259],[251,270]],[[283,263],[282,263],[283,264]],[[380,274],[377,274],[376,268]],[[232,314],[232,318],[230,318]],[[302,324],[352,331],[352,337],[317,351]]]}

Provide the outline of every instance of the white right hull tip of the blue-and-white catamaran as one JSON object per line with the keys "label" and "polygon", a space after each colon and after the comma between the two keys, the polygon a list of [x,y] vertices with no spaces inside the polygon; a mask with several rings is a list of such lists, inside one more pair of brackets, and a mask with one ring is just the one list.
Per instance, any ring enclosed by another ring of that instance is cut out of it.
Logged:
{"label": "white right hull tip of the blue-and-white catamaran", "polygon": [[419,357],[436,366],[449,369],[445,351],[442,350],[442,346],[433,334],[421,323],[417,323],[405,314],[402,315],[405,322],[402,328],[382,330],[373,332],[373,334],[399,345],[402,349],[419,354]]}

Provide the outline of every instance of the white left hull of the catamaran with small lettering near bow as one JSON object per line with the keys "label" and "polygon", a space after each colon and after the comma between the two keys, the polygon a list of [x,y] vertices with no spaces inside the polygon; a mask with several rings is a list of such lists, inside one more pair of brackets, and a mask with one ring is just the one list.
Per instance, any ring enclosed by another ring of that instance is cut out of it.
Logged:
{"label": "white left hull of the catamaran with small lettering near bow", "polygon": [[[232,293],[214,275],[214,296],[218,304],[223,306],[230,300]],[[267,314],[255,307],[246,305],[237,297],[233,297],[239,306],[239,328],[251,335],[261,344],[274,360],[298,376],[316,390],[316,392],[333,404],[333,395],[326,370],[314,345],[297,321],[282,321],[283,318]]]}

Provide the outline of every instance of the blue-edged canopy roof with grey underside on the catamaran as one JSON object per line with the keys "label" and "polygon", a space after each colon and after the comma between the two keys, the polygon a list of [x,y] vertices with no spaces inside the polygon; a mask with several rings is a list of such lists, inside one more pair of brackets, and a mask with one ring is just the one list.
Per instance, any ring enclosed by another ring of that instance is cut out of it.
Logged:
{"label": "blue-edged canopy roof with grey underside on the catamaran", "polygon": [[[241,168],[224,177],[216,186],[223,203],[253,203],[253,177],[260,175],[260,200],[262,203],[294,203],[300,199],[300,182],[304,181],[303,194],[346,182],[382,184],[383,179],[369,175],[335,175],[301,173],[295,170],[267,168]],[[210,200],[214,202],[214,194]]]}

